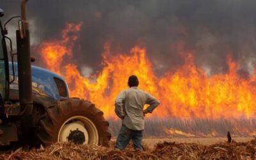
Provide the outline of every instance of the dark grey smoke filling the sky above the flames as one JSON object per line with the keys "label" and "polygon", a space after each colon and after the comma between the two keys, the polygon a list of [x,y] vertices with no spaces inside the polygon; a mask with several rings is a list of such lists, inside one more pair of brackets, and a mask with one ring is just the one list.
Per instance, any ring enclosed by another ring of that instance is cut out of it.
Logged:
{"label": "dark grey smoke filling the sky above the flames", "polygon": [[[2,0],[4,20],[19,14],[19,6],[15,0]],[[84,76],[100,70],[106,42],[111,43],[113,52],[129,52],[134,45],[146,47],[158,76],[175,71],[192,52],[196,65],[211,76],[227,72],[227,54],[241,63],[241,73],[252,74],[256,64],[255,6],[254,0],[33,0],[28,2],[28,17],[34,22],[34,45],[60,38],[65,22],[84,22],[74,47],[74,59],[85,70]],[[33,54],[38,53],[35,50]]]}

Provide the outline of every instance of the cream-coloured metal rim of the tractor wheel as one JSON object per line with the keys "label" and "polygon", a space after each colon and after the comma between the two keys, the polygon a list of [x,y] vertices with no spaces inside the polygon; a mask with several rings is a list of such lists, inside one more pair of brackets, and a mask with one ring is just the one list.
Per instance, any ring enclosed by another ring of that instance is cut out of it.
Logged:
{"label": "cream-coloured metal rim of the tractor wheel", "polygon": [[[93,124],[92,120],[85,116],[72,116],[68,118],[68,120],[66,120],[60,127],[60,131],[58,132],[58,141],[70,141],[70,134],[74,134],[74,131],[83,133],[84,141],[82,140],[82,144],[98,145],[99,133],[97,131],[97,127]],[[79,136],[79,138],[81,138],[81,135]],[[81,141],[73,142],[81,144]]]}

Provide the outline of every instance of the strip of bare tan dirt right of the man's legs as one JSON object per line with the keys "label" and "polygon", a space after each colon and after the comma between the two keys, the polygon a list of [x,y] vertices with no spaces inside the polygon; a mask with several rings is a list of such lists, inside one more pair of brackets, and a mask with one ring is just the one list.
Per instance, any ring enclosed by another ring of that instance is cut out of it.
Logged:
{"label": "strip of bare tan dirt right of the man's legs", "polygon": [[[232,138],[236,142],[247,142],[253,140],[253,137],[234,137]],[[227,138],[145,138],[143,143],[145,143],[149,148],[154,148],[157,143],[167,142],[177,142],[177,143],[197,143],[200,145],[213,145],[215,143],[225,142]]]}

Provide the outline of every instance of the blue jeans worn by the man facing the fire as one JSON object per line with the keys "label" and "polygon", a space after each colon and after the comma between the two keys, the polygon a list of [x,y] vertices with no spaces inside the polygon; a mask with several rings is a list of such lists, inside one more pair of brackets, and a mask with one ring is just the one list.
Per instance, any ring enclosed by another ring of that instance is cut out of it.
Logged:
{"label": "blue jeans worn by the man facing the fire", "polygon": [[143,131],[134,131],[127,128],[125,125],[122,125],[116,140],[115,148],[123,150],[128,145],[129,141],[132,140],[135,149],[143,150],[141,145],[142,138]]}

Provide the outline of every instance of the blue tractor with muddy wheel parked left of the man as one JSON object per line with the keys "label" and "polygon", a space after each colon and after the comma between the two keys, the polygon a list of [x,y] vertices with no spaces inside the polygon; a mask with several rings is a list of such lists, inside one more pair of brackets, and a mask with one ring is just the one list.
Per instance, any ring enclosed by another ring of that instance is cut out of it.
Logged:
{"label": "blue tractor with muddy wheel parked left of the man", "polygon": [[[108,146],[111,134],[102,111],[88,100],[70,97],[63,77],[31,66],[35,58],[30,55],[27,1],[22,0],[21,16],[10,19],[19,19],[17,52],[7,36],[10,20],[0,24],[0,149],[66,141]],[[0,9],[0,20],[3,16]]]}

